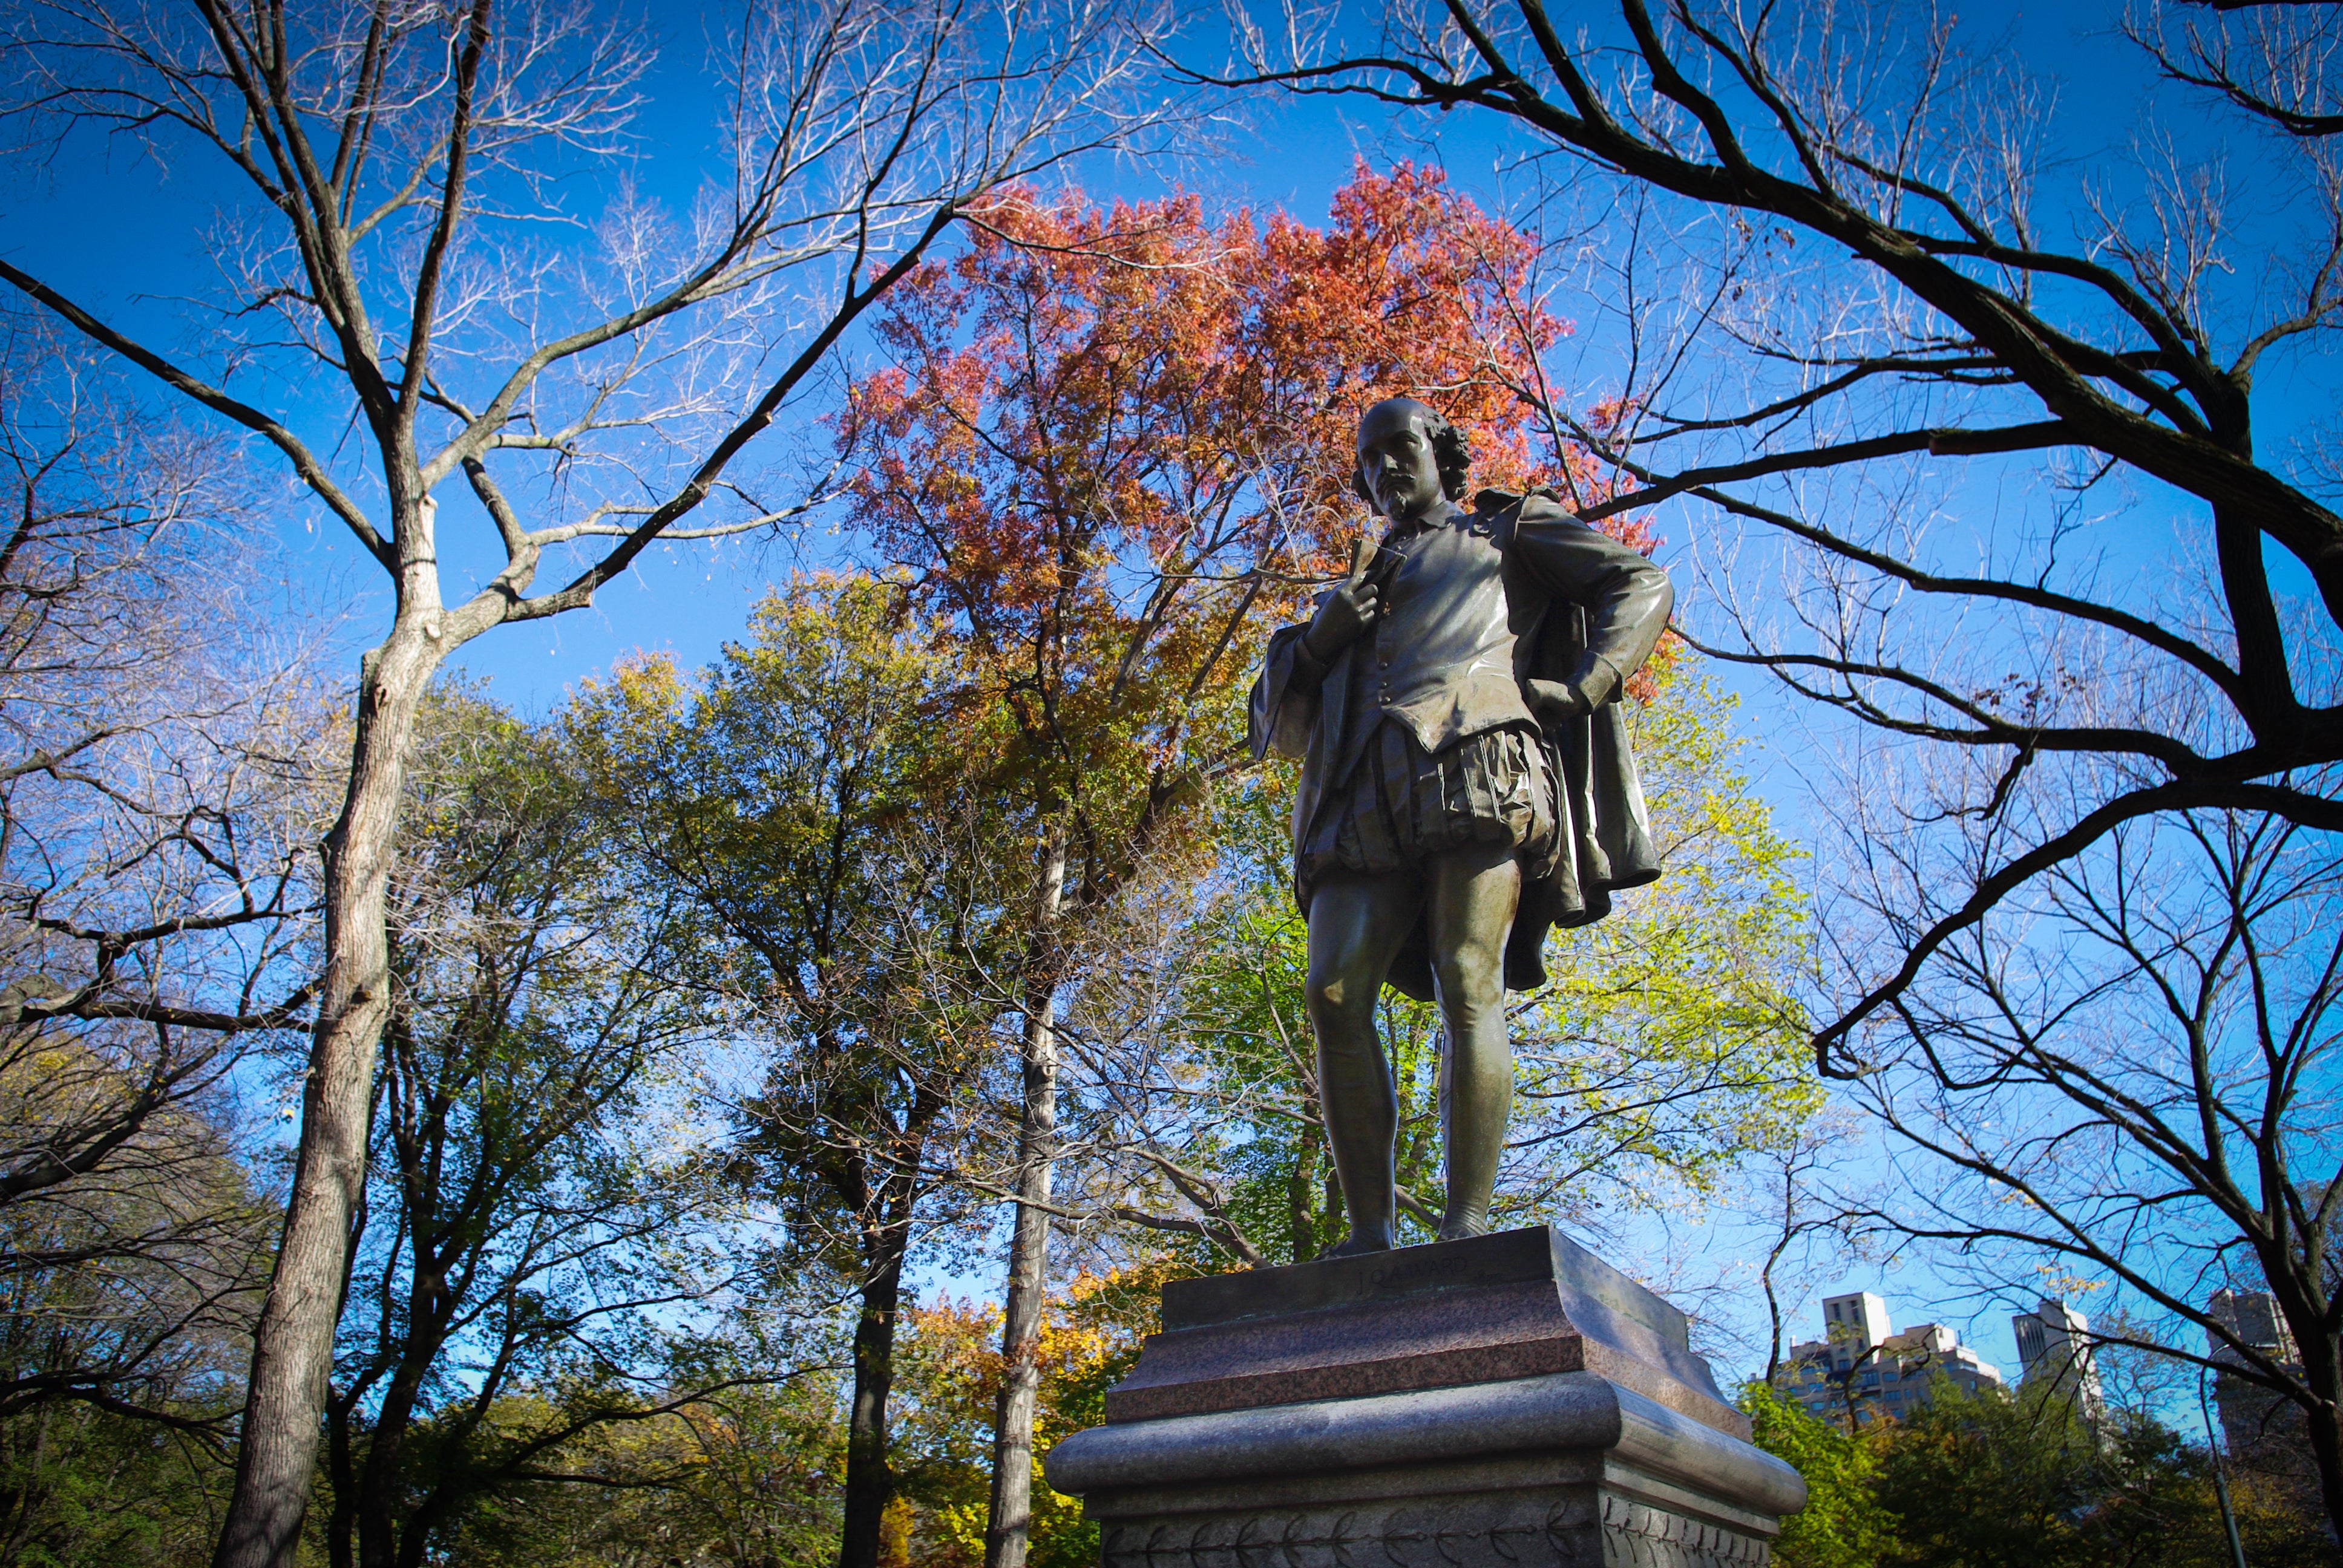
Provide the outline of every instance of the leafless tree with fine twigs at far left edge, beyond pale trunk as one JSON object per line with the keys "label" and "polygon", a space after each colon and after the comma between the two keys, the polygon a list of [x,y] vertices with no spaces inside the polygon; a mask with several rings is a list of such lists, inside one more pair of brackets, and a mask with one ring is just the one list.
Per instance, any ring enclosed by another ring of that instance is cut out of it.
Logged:
{"label": "leafless tree with fine twigs at far left edge, beyond pale trunk", "polygon": [[323,708],[251,588],[232,452],[0,314],[0,1413],[218,1434],[269,1205],[232,1078],[309,996]]}

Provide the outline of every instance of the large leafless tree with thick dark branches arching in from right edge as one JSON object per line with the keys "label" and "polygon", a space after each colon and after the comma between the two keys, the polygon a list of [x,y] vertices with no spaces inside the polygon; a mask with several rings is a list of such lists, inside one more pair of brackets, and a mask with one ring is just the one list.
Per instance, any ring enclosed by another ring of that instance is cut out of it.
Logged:
{"label": "large leafless tree with thick dark branches arching in from right edge", "polygon": [[[1821,1069],[1975,1177],[1966,1212],[1940,1214],[1947,1238],[2081,1249],[2174,1315],[2202,1313],[2174,1256],[2291,1280],[2289,1397],[2343,1519],[2343,1315],[2310,1287],[2324,1198],[2301,1198],[2343,1174],[2331,1071],[2313,1071],[2322,968],[2291,930],[2306,905],[2263,902],[2289,872],[2191,848],[2294,863],[2343,827],[2343,516],[2320,499],[2331,464],[2289,455],[2254,401],[2273,363],[2317,366],[2343,309],[2324,122],[2343,16],[2109,21],[2130,40],[2102,35],[2092,66],[2134,68],[2130,155],[2102,150],[2113,127],[2059,143],[2027,61],[1891,2],[1619,0],[1579,33],[1539,0],[1425,0],[1364,33],[1286,7],[1239,16],[1235,68],[1195,75],[1521,134],[1546,216],[1591,225],[1582,253],[1617,309],[1589,335],[1612,356],[1600,417],[1523,387],[1617,476],[1584,516],[1696,518],[1713,570],[1694,638],[1865,752],[1839,783],[1856,792],[1830,797],[1853,832],[1825,916]],[[2219,900],[2207,928],[2127,902],[2153,891],[2142,855],[2181,877],[2207,853],[2233,867],[2212,886],[2238,891],[2245,926],[2275,921],[2266,942],[2216,935]],[[2048,980],[2001,987],[2043,961],[2036,938],[2113,968],[2031,1013]],[[2214,1027],[2216,996],[2254,991],[2254,949],[2284,949],[2294,989],[2259,1024]],[[2191,1043],[2120,1034],[2130,987],[2170,987],[2177,1017],[2167,1020]],[[1954,1005],[1963,989],[2006,1010]],[[2088,1050],[2067,1034],[2090,1027]],[[1975,1137],[2015,1139],[1994,1155],[1945,1120],[1985,1106],[2010,1123]],[[2034,1158],[2097,1198],[2036,1193]],[[2003,1223],[2034,1202],[2076,1228]],[[2179,1209],[2214,1230],[2149,1223]]]}

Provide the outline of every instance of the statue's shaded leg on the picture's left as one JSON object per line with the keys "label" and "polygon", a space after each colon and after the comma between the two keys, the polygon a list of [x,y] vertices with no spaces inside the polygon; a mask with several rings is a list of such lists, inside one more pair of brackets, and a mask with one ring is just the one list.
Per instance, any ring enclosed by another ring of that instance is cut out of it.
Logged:
{"label": "statue's shaded leg on the picture's left", "polygon": [[1399,1090],[1375,1034],[1375,998],[1422,909],[1418,877],[1333,874],[1310,895],[1310,1031],[1319,1048],[1326,1148],[1343,1181],[1350,1240],[1326,1256],[1389,1252]]}

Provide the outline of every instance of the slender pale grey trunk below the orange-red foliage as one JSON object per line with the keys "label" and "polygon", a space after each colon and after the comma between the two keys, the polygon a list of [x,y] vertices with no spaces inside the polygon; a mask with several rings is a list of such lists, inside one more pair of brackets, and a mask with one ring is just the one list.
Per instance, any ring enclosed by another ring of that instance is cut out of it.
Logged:
{"label": "slender pale grey trunk below the orange-red foliage", "polygon": [[1026,987],[1024,1106],[1017,1123],[1017,1230],[1000,1322],[1000,1404],[993,1418],[993,1498],[984,1568],[1024,1568],[1033,1526],[1033,1402],[1050,1273],[1050,1179],[1057,1141],[1057,942],[1066,841],[1050,837],[1036,898],[1036,973]]}

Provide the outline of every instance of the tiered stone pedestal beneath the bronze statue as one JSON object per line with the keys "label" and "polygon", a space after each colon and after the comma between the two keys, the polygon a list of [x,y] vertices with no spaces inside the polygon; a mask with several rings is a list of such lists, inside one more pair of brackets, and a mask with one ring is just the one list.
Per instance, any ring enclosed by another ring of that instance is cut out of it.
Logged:
{"label": "tiered stone pedestal beneath the bronze statue", "polygon": [[1045,1474],[1104,1568],[1741,1566],[1806,1502],[1685,1315],[1549,1228],[1167,1284]]}

